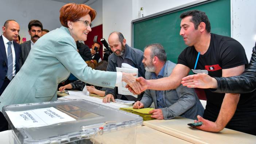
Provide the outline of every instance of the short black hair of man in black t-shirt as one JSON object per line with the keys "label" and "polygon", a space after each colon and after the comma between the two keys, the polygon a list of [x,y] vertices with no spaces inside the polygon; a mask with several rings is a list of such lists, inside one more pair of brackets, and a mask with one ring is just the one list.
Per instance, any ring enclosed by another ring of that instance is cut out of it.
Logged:
{"label": "short black hair of man in black t-shirt", "polygon": [[194,23],[195,29],[197,30],[199,24],[201,22],[205,23],[205,29],[207,32],[211,31],[211,24],[210,20],[208,19],[207,15],[205,12],[198,11],[198,10],[192,10],[192,11],[186,11],[181,13],[180,18],[183,19],[187,16],[192,16],[192,19],[190,20],[192,23]]}

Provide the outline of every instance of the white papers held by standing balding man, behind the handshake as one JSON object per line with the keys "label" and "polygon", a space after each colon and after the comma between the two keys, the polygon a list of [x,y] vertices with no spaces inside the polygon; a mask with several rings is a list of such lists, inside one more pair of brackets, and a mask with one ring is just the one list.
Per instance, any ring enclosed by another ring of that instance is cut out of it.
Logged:
{"label": "white papers held by standing balding man, behind the handshake", "polygon": [[[127,63],[122,63],[121,68],[116,67],[117,72],[124,72],[124,73],[136,73],[135,77],[138,77],[138,69],[136,67],[132,67],[131,65]],[[133,97],[138,98],[138,95],[135,95],[131,93],[125,86],[127,85],[126,82],[122,82],[120,86],[118,86],[118,94],[123,94],[123,95],[131,95]]]}

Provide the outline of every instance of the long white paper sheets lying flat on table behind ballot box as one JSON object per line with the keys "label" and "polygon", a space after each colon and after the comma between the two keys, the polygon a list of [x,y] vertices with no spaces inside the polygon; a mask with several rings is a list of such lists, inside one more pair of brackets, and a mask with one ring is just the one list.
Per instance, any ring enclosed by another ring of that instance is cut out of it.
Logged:
{"label": "long white paper sheets lying flat on table behind ballot box", "polygon": [[104,103],[104,102],[102,102],[102,100],[100,98],[86,96],[86,95],[82,94],[81,92],[76,93],[74,95],[69,95],[69,96],[58,98],[58,100],[73,100],[73,99],[87,100],[87,101],[95,102],[97,104],[105,105],[105,106],[115,108],[115,109],[127,107],[127,105],[118,104],[116,102]]}

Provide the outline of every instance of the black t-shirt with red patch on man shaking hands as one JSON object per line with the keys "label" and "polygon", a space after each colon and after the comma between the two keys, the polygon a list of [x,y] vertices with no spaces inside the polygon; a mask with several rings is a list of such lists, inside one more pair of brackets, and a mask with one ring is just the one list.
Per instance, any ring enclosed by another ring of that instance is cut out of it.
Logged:
{"label": "black t-shirt with red patch on man shaking hands", "polygon": [[[240,65],[247,66],[248,64],[245,50],[239,42],[233,38],[216,34],[211,34],[210,46],[205,54],[200,54],[194,70],[197,55],[198,52],[194,46],[187,47],[179,55],[178,64],[189,67],[194,74],[207,73],[211,77],[222,77],[222,69]],[[204,90],[207,98],[205,113],[211,113],[217,118],[225,93],[213,93],[209,89]],[[245,100],[247,101],[247,99],[240,97],[241,102],[238,104],[244,104],[242,101]],[[239,106],[237,107],[239,108]]]}

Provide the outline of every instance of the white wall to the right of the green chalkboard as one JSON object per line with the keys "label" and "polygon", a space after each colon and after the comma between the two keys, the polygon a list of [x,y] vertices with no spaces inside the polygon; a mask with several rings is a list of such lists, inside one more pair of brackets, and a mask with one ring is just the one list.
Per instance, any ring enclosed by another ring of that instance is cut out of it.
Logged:
{"label": "white wall to the right of the green chalkboard", "polygon": [[256,1],[232,0],[233,38],[245,49],[248,61],[256,42]]}

